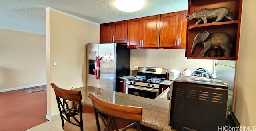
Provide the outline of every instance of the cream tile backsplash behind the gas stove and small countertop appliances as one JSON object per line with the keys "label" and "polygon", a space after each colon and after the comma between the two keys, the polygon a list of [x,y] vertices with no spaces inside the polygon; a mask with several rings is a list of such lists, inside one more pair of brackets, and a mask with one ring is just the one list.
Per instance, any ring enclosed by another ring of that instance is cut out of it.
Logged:
{"label": "cream tile backsplash behind the gas stove and small countertop appliances", "polygon": [[204,68],[213,72],[214,60],[187,59],[185,49],[131,49],[131,70],[138,67],[158,67],[168,70],[177,69],[182,71]]}

